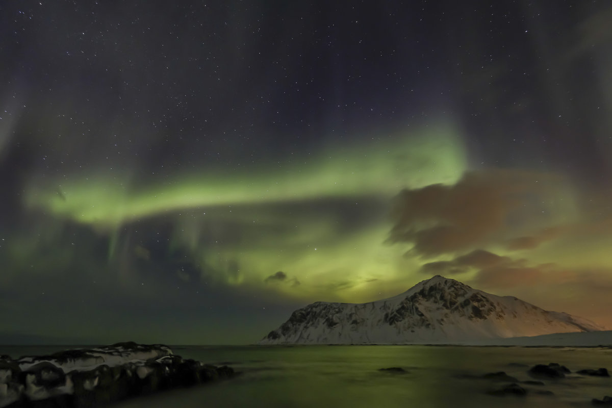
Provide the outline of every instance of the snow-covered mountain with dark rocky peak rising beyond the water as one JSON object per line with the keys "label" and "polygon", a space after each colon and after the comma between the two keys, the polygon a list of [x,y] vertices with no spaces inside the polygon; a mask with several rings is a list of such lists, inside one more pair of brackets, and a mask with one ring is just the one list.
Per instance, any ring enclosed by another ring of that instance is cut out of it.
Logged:
{"label": "snow-covered mountain with dark rocky peak rising beyond the water", "polygon": [[298,309],[259,344],[465,343],[491,338],[605,330],[436,275],[389,299],[315,302]]}

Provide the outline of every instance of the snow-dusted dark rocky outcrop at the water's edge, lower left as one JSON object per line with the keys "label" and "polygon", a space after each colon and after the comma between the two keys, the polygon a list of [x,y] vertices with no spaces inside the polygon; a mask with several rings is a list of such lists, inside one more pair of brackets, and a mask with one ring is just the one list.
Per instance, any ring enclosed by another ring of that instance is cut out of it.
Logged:
{"label": "snow-dusted dark rocky outcrop at the water's edge, lower left", "polygon": [[118,343],[17,360],[0,355],[0,408],[94,408],[234,374],[162,344]]}

